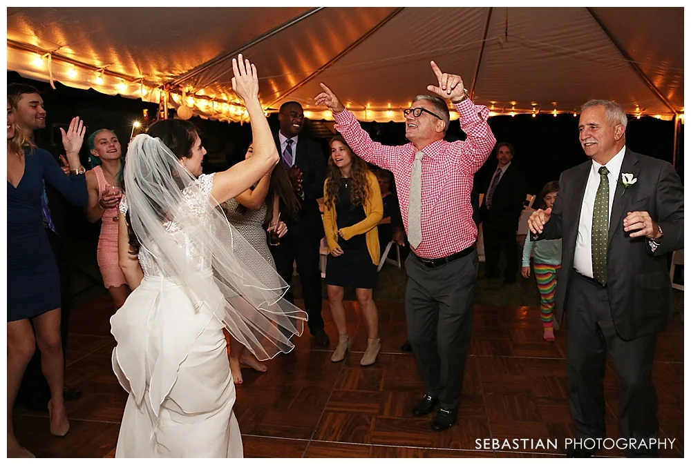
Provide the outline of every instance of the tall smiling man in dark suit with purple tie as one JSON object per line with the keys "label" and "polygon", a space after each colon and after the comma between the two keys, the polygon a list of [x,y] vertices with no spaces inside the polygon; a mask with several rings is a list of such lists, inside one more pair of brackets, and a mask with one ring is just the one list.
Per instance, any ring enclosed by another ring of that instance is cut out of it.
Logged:
{"label": "tall smiling man in dark suit with purple tie", "polygon": [[[288,232],[281,237],[281,244],[272,247],[278,274],[292,283],[293,262],[297,265],[302,284],[307,326],[316,345],[328,347],[329,336],[324,331],[321,317],[321,270],[319,270],[319,246],[324,237],[324,225],[317,199],[324,196],[326,159],[315,141],[301,136],[305,123],[300,103],[289,101],[278,110],[281,129],[274,136],[281,162],[290,177],[295,194],[301,201],[300,217],[296,223],[285,219]],[[293,303],[292,286],[285,299]]]}

